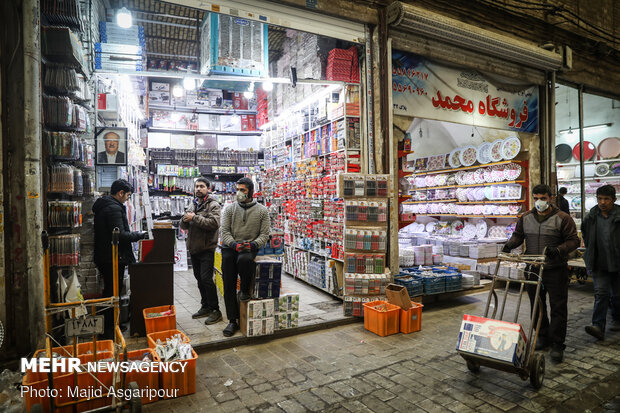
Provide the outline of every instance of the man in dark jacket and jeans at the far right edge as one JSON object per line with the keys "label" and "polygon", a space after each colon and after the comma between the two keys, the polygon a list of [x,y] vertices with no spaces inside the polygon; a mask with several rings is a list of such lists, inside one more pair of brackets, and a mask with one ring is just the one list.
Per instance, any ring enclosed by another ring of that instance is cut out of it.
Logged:
{"label": "man in dark jacket and jeans at the far right edge", "polygon": [[596,190],[597,206],[581,224],[586,247],[584,261],[594,281],[592,325],[586,332],[599,340],[605,338],[607,309],[611,304],[611,331],[620,331],[620,206],[611,185]]}

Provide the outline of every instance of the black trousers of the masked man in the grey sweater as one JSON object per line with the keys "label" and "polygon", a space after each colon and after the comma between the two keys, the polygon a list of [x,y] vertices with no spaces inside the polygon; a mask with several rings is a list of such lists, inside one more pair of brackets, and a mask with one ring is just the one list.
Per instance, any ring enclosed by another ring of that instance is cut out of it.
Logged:
{"label": "black trousers of the masked man in the grey sweater", "polygon": [[253,252],[237,252],[231,248],[222,248],[222,273],[224,278],[224,303],[229,321],[239,320],[239,302],[237,301],[237,274],[241,278],[241,292],[249,294],[256,263]]}

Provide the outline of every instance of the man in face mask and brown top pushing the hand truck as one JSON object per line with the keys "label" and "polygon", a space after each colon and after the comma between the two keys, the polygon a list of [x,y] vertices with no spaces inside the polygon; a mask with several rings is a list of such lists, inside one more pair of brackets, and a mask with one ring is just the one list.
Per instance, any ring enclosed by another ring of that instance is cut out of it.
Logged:
{"label": "man in face mask and brown top pushing the hand truck", "polygon": [[[542,275],[540,299],[543,309],[536,350],[551,346],[551,359],[564,359],[564,341],[568,317],[568,254],[579,247],[577,227],[570,215],[551,205],[551,188],[536,185],[532,190],[535,207],[524,213],[517,221],[517,227],[503,251],[510,252],[525,241],[525,254],[546,254]],[[546,249],[545,249],[546,247]],[[535,274],[532,274],[535,272]],[[537,269],[528,269],[528,278],[534,279]],[[528,286],[531,309],[534,308],[536,286]],[[551,320],[547,316],[547,299],[551,307]],[[536,321],[535,321],[536,322]]]}

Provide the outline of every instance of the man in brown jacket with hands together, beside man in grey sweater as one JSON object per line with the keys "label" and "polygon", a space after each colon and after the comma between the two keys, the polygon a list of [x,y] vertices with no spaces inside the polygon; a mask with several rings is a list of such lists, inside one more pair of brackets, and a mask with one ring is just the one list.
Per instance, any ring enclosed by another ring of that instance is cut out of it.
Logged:
{"label": "man in brown jacket with hands together, beside man in grey sweater", "polygon": [[194,183],[196,198],[187,209],[180,226],[188,230],[187,250],[200,291],[200,309],[192,318],[207,317],[205,324],[222,319],[217,290],[213,282],[213,263],[220,228],[220,204],[209,195],[211,184],[205,178]]}

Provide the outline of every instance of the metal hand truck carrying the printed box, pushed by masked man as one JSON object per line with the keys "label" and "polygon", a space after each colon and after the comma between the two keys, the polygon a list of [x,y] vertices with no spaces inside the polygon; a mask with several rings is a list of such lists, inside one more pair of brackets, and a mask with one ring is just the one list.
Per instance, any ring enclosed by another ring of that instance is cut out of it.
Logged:
{"label": "metal hand truck carrying the printed box, pushed by masked man", "polygon": [[[509,261],[515,263],[524,263],[526,264],[526,272],[528,274],[534,274],[536,276],[536,280],[530,280],[529,277],[526,277],[525,280],[515,280],[510,279],[508,277],[500,277],[497,275],[500,264],[502,261]],[[530,383],[535,389],[540,389],[543,384],[543,380],[545,378],[545,356],[542,353],[535,353],[534,349],[536,348],[536,339],[538,337],[538,331],[540,329],[540,324],[543,317],[543,308],[542,302],[540,300],[540,290],[542,284],[542,274],[545,266],[545,251],[543,251],[543,255],[516,255],[516,254],[504,254],[501,253],[498,256],[497,266],[495,267],[495,274],[493,274],[493,281],[491,283],[491,289],[489,290],[489,296],[487,298],[486,307],[484,310],[484,317],[489,317],[489,309],[491,306],[491,298],[493,298],[493,314],[491,314],[491,319],[506,321],[504,318],[504,310],[506,309],[506,298],[508,297],[508,290],[510,288],[511,283],[520,284],[519,290],[519,298],[517,302],[517,308],[514,314],[513,323],[517,323],[519,318],[519,310],[521,308],[521,299],[523,298],[523,291],[526,289],[526,286],[536,286],[536,294],[534,297],[534,308],[531,311],[531,322],[529,327],[529,334],[527,335],[527,345],[525,348],[525,356],[524,361],[521,367],[516,367],[511,363],[504,362],[501,360],[495,360],[489,357],[480,356],[477,354],[472,354],[469,352],[461,352],[459,354],[461,357],[465,359],[467,362],[467,368],[472,373],[477,373],[480,371],[480,366],[490,367],[496,370],[505,371],[508,373],[516,373],[521,377],[522,380],[530,379]],[[533,267],[538,267],[538,274],[534,272],[528,271]],[[498,310],[498,299],[497,293],[495,292],[495,288],[497,286],[498,281],[505,281],[506,287],[503,292],[502,299],[502,308],[499,312],[499,317],[496,318],[497,310]],[[535,314],[538,314],[538,321],[536,322],[536,326],[534,326],[536,317]]]}

